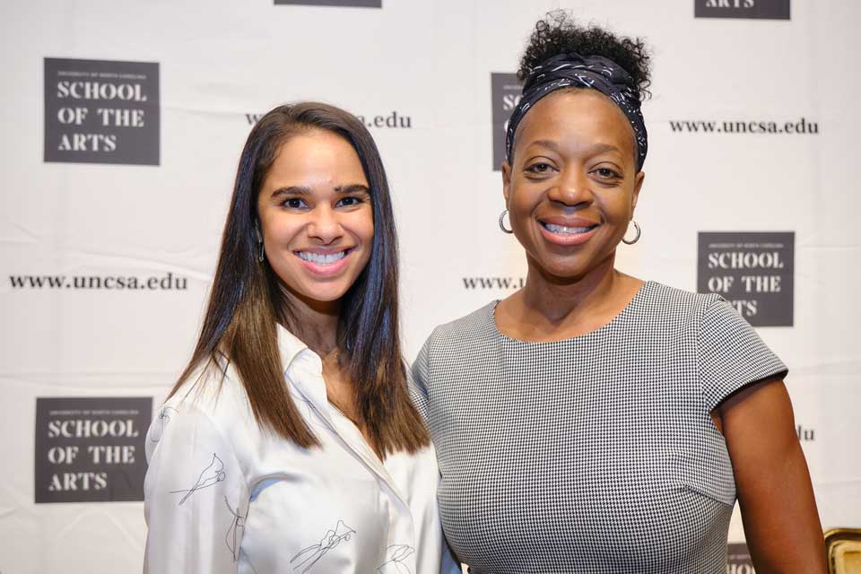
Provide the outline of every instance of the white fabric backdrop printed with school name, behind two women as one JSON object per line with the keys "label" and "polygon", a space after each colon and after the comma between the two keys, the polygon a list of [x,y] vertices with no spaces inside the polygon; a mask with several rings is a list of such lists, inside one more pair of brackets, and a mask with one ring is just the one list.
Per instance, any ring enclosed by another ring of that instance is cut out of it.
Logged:
{"label": "white fabric backdrop printed with school name, behind two women", "polygon": [[[622,270],[694,290],[699,231],[795,231],[794,326],[759,331],[788,363],[797,422],[813,431],[804,451],[822,526],[861,526],[861,81],[848,69],[861,5],[796,0],[791,20],[770,21],[695,19],[693,0],[19,0],[0,6],[0,572],[140,570],[143,503],[35,504],[36,398],[161,401],[195,342],[247,114],[313,99],[409,117],[371,129],[396,202],[409,360],[433,326],[512,292],[465,287],[525,272],[497,228],[491,73],[514,72],[532,24],[560,5],[654,48],[643,237],[620,248]],[[46,57],[158,63],[160,165],[44,161]],[[670,124],[802,117],[817,134]],[[169,272],[187,289],[20,283]],[[744,540],[737,518],[731,541]]]}

